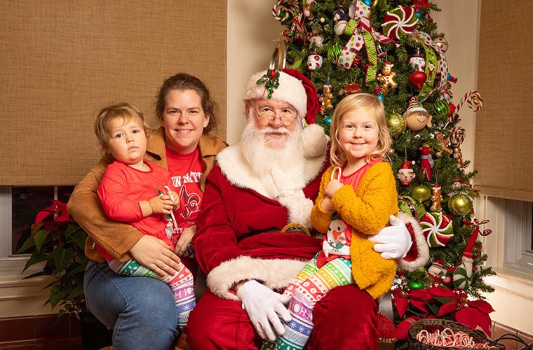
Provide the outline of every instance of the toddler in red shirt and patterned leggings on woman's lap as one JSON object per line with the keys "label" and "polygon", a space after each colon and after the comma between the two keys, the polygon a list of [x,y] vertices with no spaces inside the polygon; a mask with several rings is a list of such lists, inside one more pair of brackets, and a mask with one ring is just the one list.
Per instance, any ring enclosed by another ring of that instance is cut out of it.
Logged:
{"label": "toddler in red shirt and patterned leggings on woman's lap", "polygon": [[[105,170],[97,193],[109,218],[130,223],[144,235],[157,237],[174,249],[170,241],[175,223],[173,211],[180,207],[180,201],[173,192],[168,170],[143,160],[147,150],[146,130],[144,116],[131,104],[114,104],[98,113],[95,134],[104,151],[111,153],[115,161]],[[159,275],[133,259],[120,262],[101,246],[97,248],[117,274],[165,281],[175,296],[178,326],[182,329],[187,324],[196,304],[194,280],[187,267],[180,262],[172,276]]]}

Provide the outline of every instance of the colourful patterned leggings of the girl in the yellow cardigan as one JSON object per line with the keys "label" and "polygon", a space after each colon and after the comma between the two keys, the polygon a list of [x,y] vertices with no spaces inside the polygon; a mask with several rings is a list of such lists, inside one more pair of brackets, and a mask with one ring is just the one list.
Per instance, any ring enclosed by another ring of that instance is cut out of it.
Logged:
{"label": "colourful patterned leggings of the girl in the yellow cardigan", "polygon": [[318,254],[307,262],[283,292],[284,295],[292,294],[288,307],[292,321],[285,324],[285,334],[278,337],[276,344],[264,342],[262,349],[304,349],[313,330],[313,309],[316,302],[322,300],[333,288],[355,283],[350,260],[339,257],[318,269]]}

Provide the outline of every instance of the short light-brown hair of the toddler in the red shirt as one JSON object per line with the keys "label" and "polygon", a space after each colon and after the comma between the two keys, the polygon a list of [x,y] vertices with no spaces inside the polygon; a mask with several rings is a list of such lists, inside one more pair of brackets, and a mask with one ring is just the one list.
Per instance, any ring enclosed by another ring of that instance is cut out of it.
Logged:
{"label": "short light-brown hair of the toddler in the red shirt", "polygon": [[107,149],[107,139],[111,136],[109,135],[109,122],[115,118],[121,118],[124,120],[124,123],[128,123],[130,120],[136,120],[137,123],[144,130],[146,134],[149,129],[144,121],[144,115],[142,112],[133,106],[133,104],[128,104],[128,102],[121,102],[119,104],[111,104],[100,109],[98,116],[95,121],[95,134],[102,146],[102,150]]}

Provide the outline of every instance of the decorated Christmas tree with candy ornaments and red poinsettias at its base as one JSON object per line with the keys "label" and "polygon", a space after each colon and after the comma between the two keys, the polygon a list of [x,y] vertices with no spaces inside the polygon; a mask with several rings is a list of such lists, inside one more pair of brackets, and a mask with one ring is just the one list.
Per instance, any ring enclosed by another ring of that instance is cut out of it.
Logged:
{"label": "decorated Christmas tree with candy ornaments and red poinsettias at its base", "polygon": [[492,287],[483,277],[478,235],[487,235],[473,215],[459,110],[478,111],[483,100],[467,92],[452,104],[457,78],[447,69],[448,43],[438,33],[429,1],[277,1],[272,9],[283,25],[278,56],[315,83],[328,131],[336,104],[347,94],[376,94],[384,103],[393,135],[389,155],[398,174],[398,204],[421,223],[430,246],[429,262],[414,272],[398,271],[393,284],[397,335],[420,318],[449,318],[490,335],[490,304],[481,293]]}

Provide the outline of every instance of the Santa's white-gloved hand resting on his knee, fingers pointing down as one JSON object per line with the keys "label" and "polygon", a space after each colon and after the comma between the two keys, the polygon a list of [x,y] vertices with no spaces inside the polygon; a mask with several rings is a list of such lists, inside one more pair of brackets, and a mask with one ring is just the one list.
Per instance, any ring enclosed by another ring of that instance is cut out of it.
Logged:
{"label": "Santa's white-gloved hand resting on his knee, fingers pointing down", "polygon": [[243,309],[248,312],[259,337],[276,342],[276,338],[285,333],[280,317],[285,322],[292,320],[288,309],[282,303],[286,302],[287,298],[255,279],[246,281],[241,288],[238,288],[237,296],[243,302]]}

